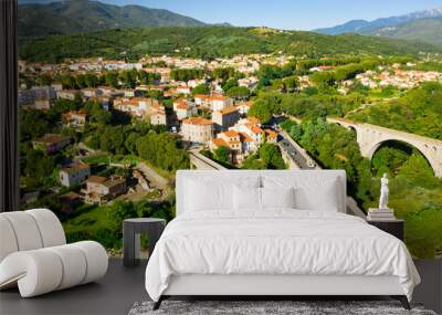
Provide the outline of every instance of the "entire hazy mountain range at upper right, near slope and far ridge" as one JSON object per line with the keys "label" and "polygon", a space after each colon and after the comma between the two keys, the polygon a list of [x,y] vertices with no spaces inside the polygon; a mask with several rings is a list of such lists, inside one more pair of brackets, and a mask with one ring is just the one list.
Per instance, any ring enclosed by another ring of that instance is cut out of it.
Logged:
{"label": "entire hazy mountain range at upper right, near slope and far ridge", "polygon": [[373,21],[352,20],[340,25],[314,31],[328,35],[357,33],[442,45],[442,8]]}

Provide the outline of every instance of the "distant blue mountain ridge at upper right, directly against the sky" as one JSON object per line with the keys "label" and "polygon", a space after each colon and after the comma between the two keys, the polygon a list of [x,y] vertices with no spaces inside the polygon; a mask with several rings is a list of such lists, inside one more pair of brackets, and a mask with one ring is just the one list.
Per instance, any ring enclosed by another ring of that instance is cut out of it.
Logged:
{"label": "distant blue mountain ridge at upper right, directly against the sky", "polygon": [[398,17],[381,18],[373,21],[354,20],[333,28],[317,29],[314,31],[328,35],[337,35],[344,33],[370,33],[370,31],[376,29],[393,27],[420,19],[433,19],[433,18],[442,18],[442,8],[417,11]]}

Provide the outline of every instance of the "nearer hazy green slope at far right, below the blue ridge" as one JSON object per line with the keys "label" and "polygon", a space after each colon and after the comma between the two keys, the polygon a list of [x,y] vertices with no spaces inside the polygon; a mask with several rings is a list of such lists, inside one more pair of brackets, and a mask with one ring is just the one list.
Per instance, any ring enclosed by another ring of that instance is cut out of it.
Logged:
{"label": "nearer hazy green slope at far right, below the blue ridge", "polygon": [[442,45],[442,18],[420,19],[365,32],[369,35],[421,41]]}

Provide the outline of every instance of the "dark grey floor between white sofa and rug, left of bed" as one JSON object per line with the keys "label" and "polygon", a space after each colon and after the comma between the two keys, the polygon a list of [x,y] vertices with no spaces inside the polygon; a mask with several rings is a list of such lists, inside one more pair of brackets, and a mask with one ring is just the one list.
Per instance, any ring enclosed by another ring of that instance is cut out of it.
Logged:
{"label": "dark grey floor between white sofa and rug, left of bed", "polygon": [[20,298],[17,290],[0,293],[1,315],[127,314],[135,302],[148,300],[144,286],[146,262],[133,269],[110,259],[107,275],[90,283],[33,298]]}

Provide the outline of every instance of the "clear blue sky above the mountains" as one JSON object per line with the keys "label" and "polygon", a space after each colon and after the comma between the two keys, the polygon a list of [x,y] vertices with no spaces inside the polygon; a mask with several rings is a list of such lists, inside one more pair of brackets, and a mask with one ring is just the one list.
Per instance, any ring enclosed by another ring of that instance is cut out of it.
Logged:
{"label": "clear blue sky above the mountains", "polygon": [[[51,0],[19,0],[50,2]],[[73,0],[75,1],[75,0]],[[442,7],[442,0],[101,0],[161,8],[208,23],[312,30],[355,19],[375,20]]]}

